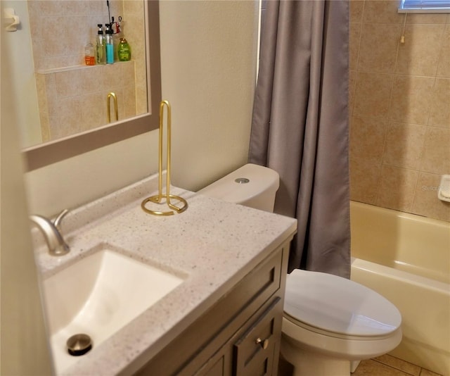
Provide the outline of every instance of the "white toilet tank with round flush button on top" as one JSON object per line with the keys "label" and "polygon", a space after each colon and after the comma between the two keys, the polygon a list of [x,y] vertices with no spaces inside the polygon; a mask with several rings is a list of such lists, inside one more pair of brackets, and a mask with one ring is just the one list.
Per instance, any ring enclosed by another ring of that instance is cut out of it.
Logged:
{"label": "white toilet tank with round flush button on top", "polygon": [[280,177],[276,171],[248,163],[197,193],[272,212],[279,186]]}

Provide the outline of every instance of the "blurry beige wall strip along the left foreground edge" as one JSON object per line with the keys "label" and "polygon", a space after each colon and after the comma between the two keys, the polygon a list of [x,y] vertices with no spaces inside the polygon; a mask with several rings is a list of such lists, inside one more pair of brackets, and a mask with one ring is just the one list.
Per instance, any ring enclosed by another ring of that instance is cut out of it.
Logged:
{"label": "blurry beige wall strip along the left foreground edge", "polygon": [[[1,13],[3,15],[3,9]],[[6,33],[0,20],[0,375],[51,375],[38,275],[31,247],[23,184],[18,122],[20,110],[4,56]]]}

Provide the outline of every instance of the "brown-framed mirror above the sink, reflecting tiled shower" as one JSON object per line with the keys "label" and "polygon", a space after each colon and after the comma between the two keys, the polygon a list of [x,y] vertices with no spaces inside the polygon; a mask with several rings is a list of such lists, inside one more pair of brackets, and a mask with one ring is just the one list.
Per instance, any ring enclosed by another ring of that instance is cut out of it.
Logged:
{"label": "brown-framed mirror above the sink, reflecting tiled shower", "polygon": [[[22,2],[2,3],[6,8]],[[23,27],[19,25],[17,32],[8,34],[28,32],[32,45],[39,122],[34,116],[32,122],[25,123],[27,127],[38,123],[38,130],[22,132],[40,133],[41,142],[25,146],[27,170],[158,128],[161,101],[158,1],[34,0],[26,4],[29,27],[25,17]],[[95,43],[97,24],[102,23],[104,30],[105,23],[113,17],[116,23],[121,21],[118,36],[126,37],[131,45],[131,61],[120,62],[116,56],[113,64],[85,65],[84,46]],[[117,95],[117,120],[115,101],[108,97],[110,92]],[[23,98],[21,102],[26,100]],[[108,123],[108,106],[113,123]]]}

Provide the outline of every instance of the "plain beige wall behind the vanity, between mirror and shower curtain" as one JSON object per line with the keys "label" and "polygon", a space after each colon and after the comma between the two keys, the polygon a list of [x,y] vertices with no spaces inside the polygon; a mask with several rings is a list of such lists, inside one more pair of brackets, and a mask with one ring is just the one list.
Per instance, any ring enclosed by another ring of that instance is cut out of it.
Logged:
{"label": "plain beige wall behind the vanity, between mirror and shower curtain", "polygon": [[[247,161],[255,1],[162,1],[162,96],[172,104],[172,182],[197,190]],[[53,215],[158,170],[158,132],[27,173],[30,211]]]}

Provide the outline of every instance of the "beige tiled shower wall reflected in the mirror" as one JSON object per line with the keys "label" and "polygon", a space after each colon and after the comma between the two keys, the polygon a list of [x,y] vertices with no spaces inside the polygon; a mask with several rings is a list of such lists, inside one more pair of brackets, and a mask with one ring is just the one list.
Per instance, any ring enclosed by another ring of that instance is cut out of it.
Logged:
{"label": "beige tiled shower wall reflected in the mirror", "polygon": [[108,123],[109,92],[117,95],[120,120],[147,112],[143,1],[109,4],[115,20],[122,16],[120,36],[131,46],[131,61],[86,66],[84,46],[95,46],[97,24],[109,21],[106,1],[27,1],[43,142]]}

